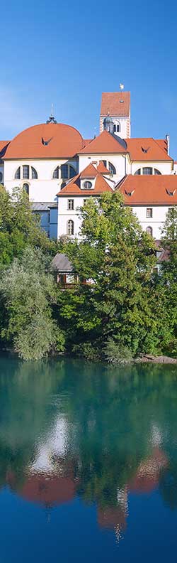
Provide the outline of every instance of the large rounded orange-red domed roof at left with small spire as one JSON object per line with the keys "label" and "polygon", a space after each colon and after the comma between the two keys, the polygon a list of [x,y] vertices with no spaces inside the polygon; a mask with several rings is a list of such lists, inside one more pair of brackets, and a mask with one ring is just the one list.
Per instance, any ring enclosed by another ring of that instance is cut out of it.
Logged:
{"label": "large rounded orange-red domed roof at left with small spire", "polygon": [[84,147],[74,127],[62,123],[42,123],[19,133],[8,145],[5,159],[71,158]]}

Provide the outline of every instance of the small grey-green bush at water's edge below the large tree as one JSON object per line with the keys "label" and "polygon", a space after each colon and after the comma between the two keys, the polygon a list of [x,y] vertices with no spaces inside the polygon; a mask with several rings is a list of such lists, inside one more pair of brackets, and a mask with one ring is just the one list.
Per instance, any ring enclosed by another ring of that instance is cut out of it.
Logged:
{"label": "small grey-green bush at water's edge below the large tree", "polygon": [[108,338],[103,348],[105,359],[112,364],[126,364],[132,361],[132,352],[130,348],[116,342],[113,338]]}

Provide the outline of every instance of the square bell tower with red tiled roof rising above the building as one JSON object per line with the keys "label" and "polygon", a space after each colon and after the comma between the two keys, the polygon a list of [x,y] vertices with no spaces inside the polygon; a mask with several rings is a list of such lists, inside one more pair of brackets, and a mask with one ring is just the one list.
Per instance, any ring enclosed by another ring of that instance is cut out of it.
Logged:
{"label": "square bell tower with red tiled roof rising above the building", "polygon": [[[120,84],[120,92],[103,92],[101,100],[100,133],[107,129],[106,122],[113,123],[113,134],[122,139],[130,138],[130,92],[124,92]],[[112,129],[112,124],[110,124]],[[111,131],[110,131],[111,132]]]}

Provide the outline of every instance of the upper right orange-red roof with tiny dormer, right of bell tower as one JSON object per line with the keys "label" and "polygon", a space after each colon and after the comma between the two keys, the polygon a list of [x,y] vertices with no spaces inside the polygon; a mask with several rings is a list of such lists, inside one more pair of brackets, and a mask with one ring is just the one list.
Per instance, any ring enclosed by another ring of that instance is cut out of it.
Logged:
{"label": "upper right orange-red roof with tiny dormer, right of bell tower", "polygon": [[156,141],[152,137],[125,139],[125,141],[127,143],[127,152],[130,153],[132,161],[173,161],[164,148],[164,139],[161,139],[161,142]]}

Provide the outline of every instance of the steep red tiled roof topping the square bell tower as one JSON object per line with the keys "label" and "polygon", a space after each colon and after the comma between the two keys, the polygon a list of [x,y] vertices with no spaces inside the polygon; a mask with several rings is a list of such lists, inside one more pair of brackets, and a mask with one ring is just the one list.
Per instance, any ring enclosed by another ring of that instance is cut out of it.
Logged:
{"label": "steep red tiled roof topping the square bell tower", "polygon": [[108,113],[113,116],[129,115],[130,92],[103,92],[101,115],[108,115]]}

